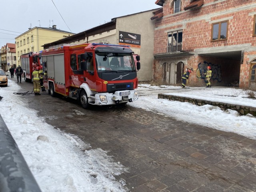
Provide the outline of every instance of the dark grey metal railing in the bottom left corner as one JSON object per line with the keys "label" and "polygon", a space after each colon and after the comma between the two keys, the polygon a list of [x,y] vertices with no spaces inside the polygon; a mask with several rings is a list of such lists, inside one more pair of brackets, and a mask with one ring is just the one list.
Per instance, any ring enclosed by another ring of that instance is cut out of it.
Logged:
{"label": "dark grey metal railing in the bottom left corner", "polygon": [[41,192],[0,114],[0,192]]}

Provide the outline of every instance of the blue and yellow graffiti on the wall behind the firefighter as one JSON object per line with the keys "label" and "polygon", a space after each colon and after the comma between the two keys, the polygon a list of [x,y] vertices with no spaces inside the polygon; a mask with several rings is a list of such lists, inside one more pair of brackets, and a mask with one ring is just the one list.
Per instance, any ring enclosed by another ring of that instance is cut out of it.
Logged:
{"label": "blue and yellow graffiti on the wall behind the firefighter", "polygon": [[206,61],[200,62],[196,70],[196,76],[198,78],[204,79],[207,71],[207,66],[212,68],[212,80],[222,81],[221,68],[218,64],[207,63]]}

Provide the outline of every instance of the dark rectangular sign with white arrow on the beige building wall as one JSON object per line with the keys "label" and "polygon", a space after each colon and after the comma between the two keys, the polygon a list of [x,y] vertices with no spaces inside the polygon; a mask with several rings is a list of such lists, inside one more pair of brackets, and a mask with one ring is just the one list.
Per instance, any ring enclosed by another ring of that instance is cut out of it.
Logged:
{"label": "dark rectangular sign with white arrow on the beige building wall", "polygon": [[119,31],[119,44],[140,48],[140,34]]}

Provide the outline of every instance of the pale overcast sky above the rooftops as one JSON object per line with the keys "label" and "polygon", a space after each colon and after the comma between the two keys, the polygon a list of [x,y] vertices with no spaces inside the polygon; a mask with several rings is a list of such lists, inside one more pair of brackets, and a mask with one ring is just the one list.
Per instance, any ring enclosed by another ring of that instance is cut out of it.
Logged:
{"label": "pale overcast sky above the rooftops", "polygon": [[112,18],[160,8],[155,2],[156,0],[4,0],[0,3],[0,47],[6,43],[15,43],[15,37],[26,32],[30,26],[52,27],[54,24],[60,30],[79,33],[110,22]]}

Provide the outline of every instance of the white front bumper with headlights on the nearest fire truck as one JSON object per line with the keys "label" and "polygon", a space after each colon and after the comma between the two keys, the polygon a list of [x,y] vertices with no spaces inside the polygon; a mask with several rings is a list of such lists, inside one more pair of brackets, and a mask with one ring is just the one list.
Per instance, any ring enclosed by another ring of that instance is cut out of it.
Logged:
{"label": "white front bumper with headlights on the nearest fire truck", "polygon": [[116,91],[114,94],[98,93],[95,95],[96,105],[114,105],[136,100],[138,100],[138,92],[136,90]]}

